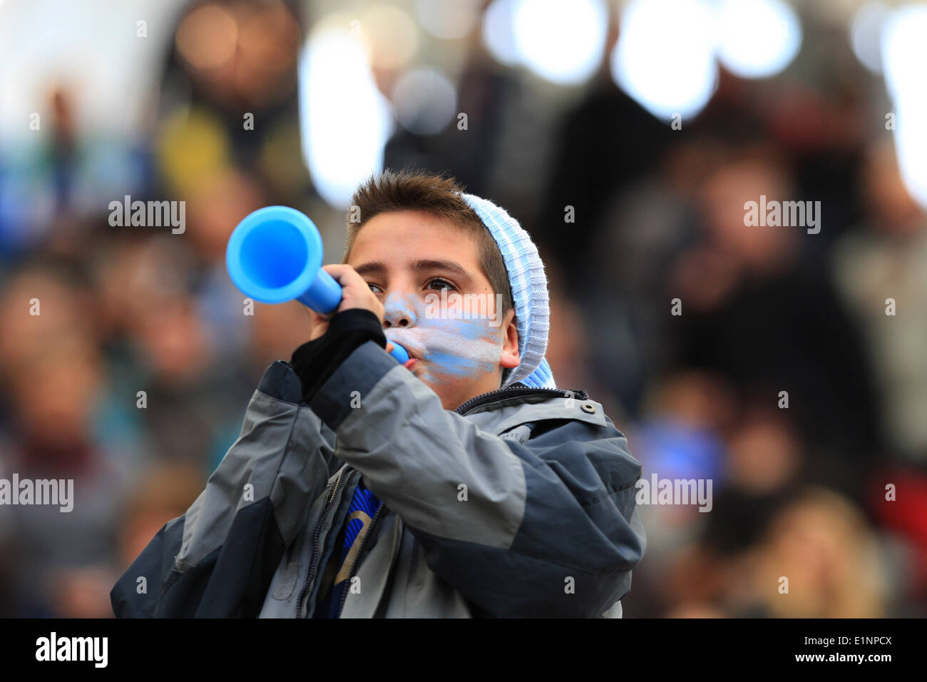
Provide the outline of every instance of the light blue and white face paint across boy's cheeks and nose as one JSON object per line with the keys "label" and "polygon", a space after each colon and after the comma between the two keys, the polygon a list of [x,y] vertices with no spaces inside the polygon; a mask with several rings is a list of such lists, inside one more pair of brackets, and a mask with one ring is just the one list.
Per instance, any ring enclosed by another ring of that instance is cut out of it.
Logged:
{"label": "light blue and white face paint across boy's cheeks and nose", "polygon": [[[427,298],[427,297],[425,297]],[[410,371],[429,385],[476,380],[498,371],[504,329],[492,316],[434,314],[429,302],[413,294],[389,294],[383,302],[392,327],[384,334],[405,348],[416,362]],[[402,327],[396,320],[407,319]]]}

